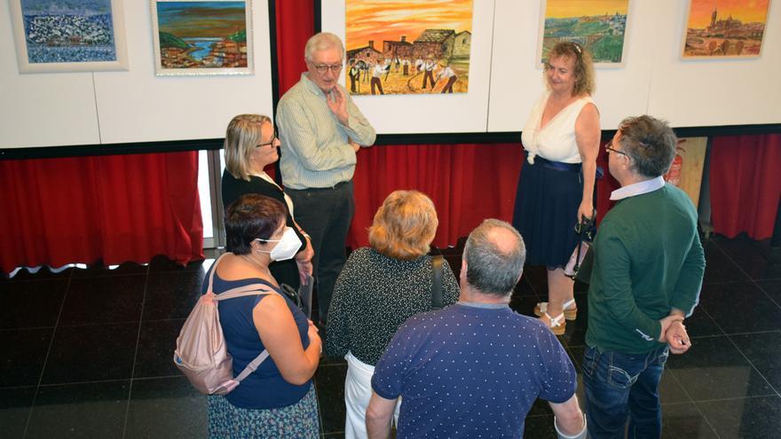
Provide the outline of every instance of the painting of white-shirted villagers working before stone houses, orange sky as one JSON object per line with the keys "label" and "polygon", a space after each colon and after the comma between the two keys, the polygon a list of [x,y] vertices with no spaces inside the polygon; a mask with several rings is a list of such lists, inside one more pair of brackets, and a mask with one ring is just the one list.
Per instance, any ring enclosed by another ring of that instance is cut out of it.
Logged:
{"label": "painting of white-shirted villagers working before stone houses, orange sky", "polygon": [[466,93],[472,0],[346,0],[353,95]]}

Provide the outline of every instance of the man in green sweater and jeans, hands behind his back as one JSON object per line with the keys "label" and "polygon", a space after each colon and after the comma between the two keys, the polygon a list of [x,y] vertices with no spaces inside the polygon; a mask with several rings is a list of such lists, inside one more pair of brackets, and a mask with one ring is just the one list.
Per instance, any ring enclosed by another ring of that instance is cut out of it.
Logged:
{"label": "man in green sweater and jeans, hands behind his back", "polygon": [[669,352],[690,346],[682,322],[698,303],[705,255],[694,205],[662,177],[676,142],[644,115],[621,122],[605,147],[621,188],[596,234],[588,289],[583,381],[595,439],[660,437],[659,380]]}

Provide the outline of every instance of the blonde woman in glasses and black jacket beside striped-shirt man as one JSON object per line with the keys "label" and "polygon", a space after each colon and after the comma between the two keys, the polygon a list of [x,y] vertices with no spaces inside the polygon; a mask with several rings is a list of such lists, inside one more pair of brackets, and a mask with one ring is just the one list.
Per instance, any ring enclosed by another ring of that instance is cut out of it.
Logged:
{"label": "blonde woman in glasses and black jacket beside striped-shirt man", "polygon": [[[293,260],[275,262],[272,275],[280,284],[298,289],[307,275],[312,276],[314,252],[307,235],[294,220],[293,200],[282,191],[264,168],[280,159],[277,148],[280,140],[274,134],[271,119],[260,114],[239,114],[228,124],[225,132],[225,172],[222,179],[223,207],[245,193],[259,193],[284,203],[285,221],[301,240]],[[231,251],[230,243],[227,247]]]}

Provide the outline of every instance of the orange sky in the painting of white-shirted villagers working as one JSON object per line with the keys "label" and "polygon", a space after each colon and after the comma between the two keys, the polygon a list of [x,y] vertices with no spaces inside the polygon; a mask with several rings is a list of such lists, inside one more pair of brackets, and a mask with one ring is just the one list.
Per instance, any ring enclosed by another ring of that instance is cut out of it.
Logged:
{"label": "orange sky in the painting of white-shirted villagers working", "polygon": [[414,41],[428,28],[472,31],[472,0],[347,0],[347,50],[374,40]]}

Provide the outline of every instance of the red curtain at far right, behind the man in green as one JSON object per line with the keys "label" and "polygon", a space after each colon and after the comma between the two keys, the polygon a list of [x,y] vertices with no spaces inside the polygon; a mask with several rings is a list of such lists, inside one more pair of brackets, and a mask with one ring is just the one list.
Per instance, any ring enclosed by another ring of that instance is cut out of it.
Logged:
{"label": "red curtain at far right, behind the man in green", "polygon": [[714,231],[770,238],[781,199],[781,134],[714,137],[710,173]]}

